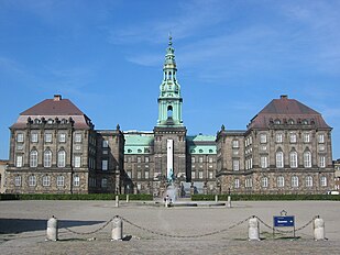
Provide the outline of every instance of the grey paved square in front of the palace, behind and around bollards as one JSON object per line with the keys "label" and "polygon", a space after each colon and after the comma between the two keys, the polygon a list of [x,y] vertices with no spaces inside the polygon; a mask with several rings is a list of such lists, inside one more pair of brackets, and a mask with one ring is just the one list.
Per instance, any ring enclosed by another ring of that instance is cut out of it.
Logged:
{"label": "grey paved square in front of the palace, behind and around bollards", "polygon": [[[0,253],[340,254],[339,202],[240,201],[232,206],[164,208],[131,202],[116,208],[114,201],[0,201]],[[296,240],[292,233],[277,233],[273,239],[272,230],[262,223],[262,241],[246,240],[249,217],[272,225],[273,215],[282,210],[295,215],[297,229],[320,215],[328,241],[314,241],[311,224],[298,231]],[[52,215],[59,220],[58,242],[44,241],[46,220]],[[125,219],[124,241],[110,241],[111,222],[95,232],[114,215]]]}

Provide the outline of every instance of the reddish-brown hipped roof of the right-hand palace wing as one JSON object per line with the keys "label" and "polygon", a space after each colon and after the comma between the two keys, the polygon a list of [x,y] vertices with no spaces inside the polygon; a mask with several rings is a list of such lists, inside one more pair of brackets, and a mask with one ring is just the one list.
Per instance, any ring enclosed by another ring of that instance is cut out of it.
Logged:
{"label": "reddish-brown hipped roof of the right-hand palace wing", "polygon": [[248,127],[270,127],[276,120],[282,124],[289,124],[289,121],[294,124],[306,122],[306,125],[317,129],[331,129],[319,112],[287,96],[273,99],[251,120]]}

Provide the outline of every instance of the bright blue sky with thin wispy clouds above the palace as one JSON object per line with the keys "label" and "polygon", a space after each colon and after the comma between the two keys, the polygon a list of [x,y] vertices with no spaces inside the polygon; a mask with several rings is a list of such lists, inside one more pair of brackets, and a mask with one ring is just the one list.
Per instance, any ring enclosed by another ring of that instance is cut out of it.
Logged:
{"label": "bright blue sky with thin wispy clouds above the palace", "polygon": [[0,0],[0,158],[19,113],[61,93],[96,129],[152,130],[171,32],[188,134],[244,130],[288,95],[333,127],[340,1]]}

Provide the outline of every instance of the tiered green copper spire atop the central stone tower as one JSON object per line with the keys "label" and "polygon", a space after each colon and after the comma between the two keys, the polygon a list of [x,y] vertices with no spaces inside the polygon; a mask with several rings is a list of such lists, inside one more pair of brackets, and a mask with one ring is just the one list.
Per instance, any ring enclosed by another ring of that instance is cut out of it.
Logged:
{"label": "tiered green copper spire atop the central stone tower", "polygon": [[183,126],[180,86],[176,78],[175,49],[172,36],[168,37],[163,81],[160,87],[157,126]]}

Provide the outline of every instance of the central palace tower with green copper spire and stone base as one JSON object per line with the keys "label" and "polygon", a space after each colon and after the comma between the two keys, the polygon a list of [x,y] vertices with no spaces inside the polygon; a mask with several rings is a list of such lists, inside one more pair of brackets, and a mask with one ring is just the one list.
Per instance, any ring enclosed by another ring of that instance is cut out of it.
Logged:
{"label": "central palace tower with green copper spire and stone base", "polygon": [[158,120],[154,127],[155,173],[168,181],[186,180],[186,127],[182,120],[180,86],[175,49],[169,36],[158,96]]}

